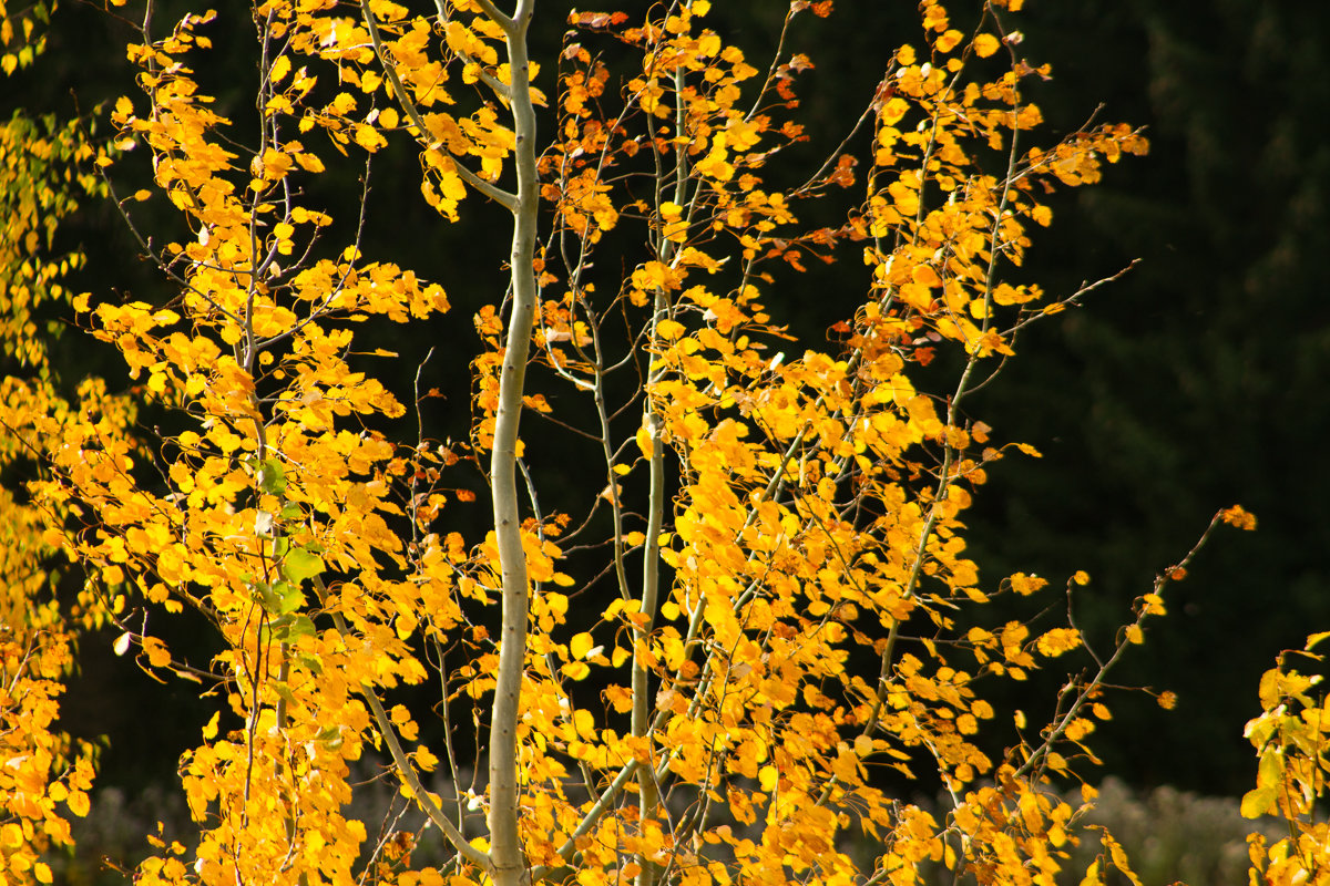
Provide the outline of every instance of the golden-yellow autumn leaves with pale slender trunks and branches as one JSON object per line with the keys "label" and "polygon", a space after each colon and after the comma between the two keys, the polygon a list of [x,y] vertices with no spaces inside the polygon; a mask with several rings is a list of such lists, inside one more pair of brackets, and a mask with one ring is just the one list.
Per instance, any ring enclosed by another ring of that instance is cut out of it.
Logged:
{"label": "golden-yellow autumn leaves with pale slender trunks and branches", "polygon": [[[132,5],[112,13],[146,23]],[[758,61],[706,0],[573,12],[559,54],[528,60],[532,16],[564,15],[533,5],[257,3],[253,101],[233,109],[197,72],[239,9],[154,21],[128,46],[141,93],[109,109],[114,139],[63,130],[105,177],[82,193],[114,193],[172,295],[69,299],[59,267],[31,270],[40,243],[5,254],[31,283],[4,323],[64,298],[128,368],[73,397],[44,372],[4,383],[3,456],[40,466],[0,499],[7,875],[49,881],[40,854],[88,812],[90,753],[52,720],[72,634],[109,623],[118,654],[217,708],[180,760],[197,840],[160,845],[138,883],[1052,883],[1085,836],[1051,785],[1089,774],[1104,676],[1196,551],[1108,650],[1075,623],[986,618],[1036,594],[1072,611],[1087,576],[1064,591],[967,558],[987,472],[1037,456],[970,402],[1017,333],[1119,271],[1061,294],[1020,278],[1047,194],[1145,139],[1097,124],[1040,141],[1024,90],[1049,69],[1020,48],[1019,0],[919,4],[862,120],[802,174],[781,163],[805,155],[815,60],[790,45],[830,1],[794,0]],[[511,251],[477,259],[507,262],[507,291],[458,317],[452,282],[367,254],[364,221],[310,197],[380,162],[419,166],[438,211],[422,236],[464,236],[473,202],[511,211]],[[150,186],[117,190],[126,167]],[[843,221],[801,224],[815,201]],[[145,230],[141,203],[180,223]],[[40,239],[37,219],[7,223]],[[862,292],[829,348],[795,343],[782,306],[833,260],[862,264]],[[434,363],[403,372],[363,344],[439,323],[475,329],[469,397],[451,397],[469,399],[464,440],[426,434]],[[7,348],[40,363],[20,325]],[[916,387],[930,364],[943,389]],[[572,491],[540,458],[559,434]],[[86,576],[73,610],[49,592],[56,553]],[[152,630],[186,607],[214,628],[205,660]],[[1048,723],[986,700],[1071,652]],[[1325,729],[1305,683],[1262,687],[1253,814],[1311,821]],[[350,814],[366,765],[423,830]],[[906,780],[948,804],[911,802]],[[1326,875],[1323,824],[1299,826],[1254,845],[1269,882]],[[451,861],[412,865],[427,832]],[[1076,875],[1134,879],[1089,838],[1101,858]]]}

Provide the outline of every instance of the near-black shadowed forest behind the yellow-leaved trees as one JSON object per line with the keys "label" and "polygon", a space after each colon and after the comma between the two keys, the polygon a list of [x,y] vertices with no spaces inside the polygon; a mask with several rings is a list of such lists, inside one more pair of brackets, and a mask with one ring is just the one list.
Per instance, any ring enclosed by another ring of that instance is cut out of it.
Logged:
{"label": "near-black shadowed forest behind the yellow-leaved trees", "polygon": [[[162,4],[158,21],[181,5]],[[793,46],[818,65],[801,86],[805,122],[825,139],[810,146],[810,162],[847,132],[895,46],[919,40],[914,3],[837,7],[826,21],[801,17],[793,33]],[[950,4],[958,27],[967,27],[968,7],[978,4]],[[783,8],[777,0],[716,0],[712,20],[762,58]],[[564,11],[537,4],[548,31],[535,57],[553,57]],[[1025,335],[1019,359],[971,404],[1001,438],[1044,453],[991,472],[970,521],[974,558],[992,582],[1016,570],[1087,570],[1093,582],[1077,611],[1104,644],[1130,600],[1217,509],[1241,502],[1254,511],[1260,531],[1222,534],[1173,587],[1169,616],[1152,624],[1148,644],[1117,673],[1124,684],[1176,692],[1177,708],[1164,711],[1146,695],[1119,699],[1116,719],[1095,743],[1103,772],[1134,785],[1236,796],[1254,774],[1242,727],[1256,712],[1260,673],[1279,650],[1330,628],[1330,470],[1321,442],[1330,430],[1330,8],[1028,0],[1012,23],[1025,35],[1021,50],[1053,65],[1053,80],[1033,96],[1049,139],[1103,104],[1099,120],[1146,126],[1152,150],[1109,167],[1100,186],[1061,194],[1053,226],[1037,232],[1020,271],[1065,294],[1141,259],[1085,308]],[[251,29],[222,21],[209,33],[225,49],[247,41]],[[53,21],[47,56],[3,85],[0,112],[72,116],[132,93],[128,39],[104,13],[69,3]],[[249,64],[237,60],[234,70],[209,77],[222,104],[243,105]],[[548,77],[543,85],[552,90]],[[469,348],[467,317],[495,300],[499,279],[497,266],[473,267],[472,244],[504,238],[503,214],[476,203],[462,227],[435,239],[414,161],[380,166],[376,177],[366,252],[443,282],[455,311],[435,344]],[[351,207],[358,195],[351,182],[329,199]],[[165,298],[112,209],[86,207],[63,236],[89,254],[76,291]],[[771,312],[813,344],[861,295],[858,262],[841,264],[810,271],[769,299]],[[838,291],[843,302],[827,295]],[[77,333],[63,336],[57,353],[66,383],[88,373],[124,377],[113,355]],[[444,408],[464,410],[464,369],[436,384],[460,384]],[[447,426],[456,417],[431,420]],[[110,640],[82,640],[66,724],[108,736],[102,784],[166,784],[180,749],[197,739],[192,687],[152,683],[110,654]],[[160,717],[164,705],[177,705],[180,732],[169,725],[177,717]]]}

